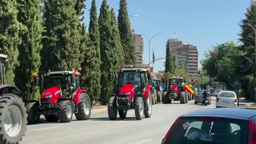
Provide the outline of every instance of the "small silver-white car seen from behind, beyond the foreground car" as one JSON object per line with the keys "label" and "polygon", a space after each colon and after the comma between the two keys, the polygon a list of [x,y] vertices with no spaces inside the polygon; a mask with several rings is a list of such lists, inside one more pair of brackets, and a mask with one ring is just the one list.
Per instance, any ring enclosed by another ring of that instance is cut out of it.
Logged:
{"label": "small silver-white car seen from behind, beyond the foreground car", "polygon": [[235,108],[237,107],[237,102],[238,99],[234,91],[220,91],[216,99],[216,108]]}

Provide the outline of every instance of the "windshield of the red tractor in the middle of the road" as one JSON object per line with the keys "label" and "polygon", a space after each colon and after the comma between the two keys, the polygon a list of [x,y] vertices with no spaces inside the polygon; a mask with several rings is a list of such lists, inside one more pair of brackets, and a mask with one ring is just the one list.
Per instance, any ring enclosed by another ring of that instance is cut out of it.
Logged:
{"label": "windshield of the red tractor in the middle of the road", "polygon": [[137,71],[125,71],[119,73],[118,87],[121,87],[127,83],[132,83],[134,87],[141,87],[140,73]]}

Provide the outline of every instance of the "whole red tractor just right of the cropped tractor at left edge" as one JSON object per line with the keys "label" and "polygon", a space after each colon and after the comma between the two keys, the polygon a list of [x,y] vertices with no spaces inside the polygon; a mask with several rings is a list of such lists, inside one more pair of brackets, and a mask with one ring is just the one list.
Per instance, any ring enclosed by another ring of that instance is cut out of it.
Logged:
{"label": "whole red tractor just right of the cropped tractor at left edge", "polygon": [[77,120],[91,115],[91,101],[87,91],[79,86],[79,73],[54,71],[44,74],[40,103],[30,101],[28,123],[36,123],[43,114],[47,122],[70,122],[73,113]]}

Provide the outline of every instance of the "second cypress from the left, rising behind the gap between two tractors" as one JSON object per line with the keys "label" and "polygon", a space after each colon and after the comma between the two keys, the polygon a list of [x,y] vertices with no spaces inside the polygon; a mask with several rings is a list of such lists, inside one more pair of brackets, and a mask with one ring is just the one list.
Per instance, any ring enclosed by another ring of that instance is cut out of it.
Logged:
{"label": "second cypress from the left, rising behind the gap between two tractors", "polygon": [[42,50],[42,17],[40,0],[18,0],[18,21],[25,27],[22,44],[19,46],[20,66],[16,70],[15,80],[19,89],[27,99],[34,99],[34,72],[38,72],[41,65],[40,52]]}

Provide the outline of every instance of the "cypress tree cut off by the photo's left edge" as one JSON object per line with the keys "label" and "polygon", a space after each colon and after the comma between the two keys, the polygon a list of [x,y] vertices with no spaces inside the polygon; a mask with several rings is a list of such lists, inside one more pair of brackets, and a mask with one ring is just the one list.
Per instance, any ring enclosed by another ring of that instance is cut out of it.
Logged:
{"label": "cypress tree cut off by the photo's left edge", "polygon": [[[18,7],[16,0],[0,1],[0,53],[8,56],[4,66],[4,83],[14,84],[14,70],[19,66],[18,46],[23,26],[17,20]],[[3,82],[1,82],[3,83]]]}

